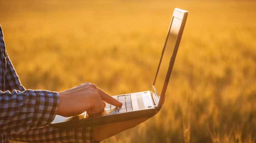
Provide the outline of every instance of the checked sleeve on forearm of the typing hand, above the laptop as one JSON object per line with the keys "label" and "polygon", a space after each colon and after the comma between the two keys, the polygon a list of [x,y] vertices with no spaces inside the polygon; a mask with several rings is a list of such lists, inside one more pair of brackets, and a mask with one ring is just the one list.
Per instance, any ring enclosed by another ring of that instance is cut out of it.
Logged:
{"label": "checked sleeve on forearm of the typing hand, above the laptop", "polygon": [[58,110],[57,92],[1,91],[0,134],[18,133],[51,123]]}

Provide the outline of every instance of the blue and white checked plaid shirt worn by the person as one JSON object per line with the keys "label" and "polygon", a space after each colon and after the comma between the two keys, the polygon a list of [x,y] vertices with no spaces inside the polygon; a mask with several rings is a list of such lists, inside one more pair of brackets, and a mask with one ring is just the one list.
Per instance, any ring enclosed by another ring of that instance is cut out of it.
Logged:
{"label": "blue and white checked plaid shirt worn by the person", "polygon": [[93,142],[93,129],[60,130],[47,126],[55,118],[59,95],[26,90],[5,51],[0,25],[0,142]]}

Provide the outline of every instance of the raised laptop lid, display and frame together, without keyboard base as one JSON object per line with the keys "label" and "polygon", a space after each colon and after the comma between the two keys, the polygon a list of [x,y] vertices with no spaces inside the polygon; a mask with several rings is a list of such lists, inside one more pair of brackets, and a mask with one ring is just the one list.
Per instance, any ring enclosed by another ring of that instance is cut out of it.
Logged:
{"label": "raised laptop lid, display and frame together, without keyboard base", "polygon": [[180,39],[185,27],[187,15],[188,12],[185,10],[175,8],[173,11],[173,16],[153,83],[155,93],[160,96],[157,107],[158,110],[161,109],[164,102],[165,92],[180,45]]}

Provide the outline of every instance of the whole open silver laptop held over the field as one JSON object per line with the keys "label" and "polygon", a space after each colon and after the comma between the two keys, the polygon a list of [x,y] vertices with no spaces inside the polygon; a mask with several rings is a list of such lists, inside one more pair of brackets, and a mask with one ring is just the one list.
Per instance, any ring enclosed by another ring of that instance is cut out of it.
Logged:
{"label": "whole open silver laptop held over the field", "polygon": [[122,107],[107,104],[102,114],[88,115],[86,112],[83,112],[80,115],[72,117],[56,115],[50,126],[59,129],[91,127],[154,116],[155,112],[159,111],[164,103],[165,92],[180,45],[187,15],[188,12],[185,10],[175,8],[173,11],[164,48],[152,85],[153,91],[112,96],[123,103]]}

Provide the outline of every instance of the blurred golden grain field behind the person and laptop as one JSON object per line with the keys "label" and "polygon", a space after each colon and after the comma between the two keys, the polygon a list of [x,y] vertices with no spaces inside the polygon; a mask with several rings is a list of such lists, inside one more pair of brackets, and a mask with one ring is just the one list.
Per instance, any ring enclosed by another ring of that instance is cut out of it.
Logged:
{"label": "blurred golden grain field behind the person and laptop", "polygon": [[[103,141],[255,142],[256,1],[1,0],[7,52],[27,89],[151,89],[173,13],[189,12],[161,111]],[[14,142],[14,141],[13,141]]]}

